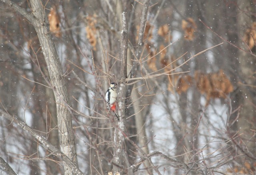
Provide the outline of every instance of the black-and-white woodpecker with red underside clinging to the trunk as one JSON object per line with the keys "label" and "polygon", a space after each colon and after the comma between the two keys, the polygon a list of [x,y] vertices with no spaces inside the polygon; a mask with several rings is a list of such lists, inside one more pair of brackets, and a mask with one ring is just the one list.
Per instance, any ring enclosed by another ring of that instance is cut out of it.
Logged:
{"label": "black-and-white woodpecker with red underside clinging to the trunk", "polygon": [[116,90],[116,83],[111,83],[110,87],[108,88],[108,90],[106,91],[106,95],[105,95],[105,99],[107,102],[107,108],[108,111],[112,111],[115,113],[118,121],[119,121],[119,117],[116,113],[116,101],[117,101],[117,90]]}

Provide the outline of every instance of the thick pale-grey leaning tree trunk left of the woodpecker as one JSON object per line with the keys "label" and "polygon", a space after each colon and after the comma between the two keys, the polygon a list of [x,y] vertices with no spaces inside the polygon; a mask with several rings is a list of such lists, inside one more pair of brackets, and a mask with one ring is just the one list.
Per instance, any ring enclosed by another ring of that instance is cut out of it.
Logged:
{"label": "thick pale-grey leaning tree trunk left of the woodpecker", "polygon": [[[52,42],[52,36],[49,32],[49,22],[45,14],[42,2],[39,0],[31,0],[32,14],[35,19],[32,21],[36,29],[46,64],[48,67],[50,81],[54,90],[56,100],[57,119],[60,137],[60,149],[65,153],[72,162],[78,166],[76,157],[76,147],[72,132],[72,119],[68,106],[70,101],[62,76],[60,60],[57,56],[56,49]],[[73,174],[71,167],[65,165],[65,174]]]}

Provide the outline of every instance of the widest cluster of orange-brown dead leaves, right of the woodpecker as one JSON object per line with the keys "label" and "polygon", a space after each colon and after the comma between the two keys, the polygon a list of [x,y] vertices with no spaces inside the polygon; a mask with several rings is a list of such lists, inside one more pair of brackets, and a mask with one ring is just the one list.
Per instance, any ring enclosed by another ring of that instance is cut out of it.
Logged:
{"label": "widest cluster of orange-brown dead leaves, right of the woodpecker", "polygon": [[194,73],[194,77],[189,75],[169,76],[170,84],[168,90],[174,91],[172,84],[175,84],[175,90],[181,94],[186,92],[190,87],[196,86],[202,95],[206,95],[206,105],[210,99],[227,98],[227,94],[234,90],[230,80],[224,74],[223,70],[219,72],[204,74],[200,71]]}

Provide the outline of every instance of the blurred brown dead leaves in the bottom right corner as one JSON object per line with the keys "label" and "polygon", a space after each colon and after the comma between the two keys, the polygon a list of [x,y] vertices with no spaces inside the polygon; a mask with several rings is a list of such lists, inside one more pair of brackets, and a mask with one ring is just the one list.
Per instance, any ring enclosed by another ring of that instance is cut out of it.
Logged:
{"label": "blurred brown dead leaves in the bottom right corner", "polygon": [[232,169],[227,169],[228,173],[239,173],[239,174],[255,174],[256,162],[250,164],[248,161],[244,162],[244,167],[235,166]]}

